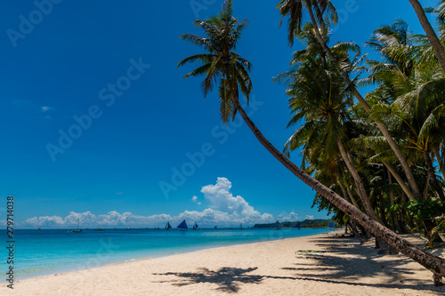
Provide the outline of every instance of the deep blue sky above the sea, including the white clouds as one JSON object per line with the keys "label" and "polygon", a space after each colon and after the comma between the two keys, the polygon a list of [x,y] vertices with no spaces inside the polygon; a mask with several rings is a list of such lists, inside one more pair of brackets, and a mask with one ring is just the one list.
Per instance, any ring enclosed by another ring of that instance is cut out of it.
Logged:
{"label": "deep blue sky above the sea, including the white clouds", "polygon": [[[204,99],[198,78],[183,79],[192,67],[176,69],[199,52],[179,36],[200,34],[192,21],[219,12],[222,0],[49,3],[0,4],[0,196],[15,196],[21,227],[71,227],[79,213],[90,227],[101,215],[108,219],[102,225],[147,227],[182,218],[208,226],[326,218],[311,209],[312,189],[245,124],[223,127],[216,94]],[[293,131],[284,88],[271,80],[302,45],[287,46],[278,3],[235,0],[234,14],[249,19],[238,52],[254,65],[251,117],[280,149]],[[409,1],[334,3],[340,23],[333,41],[362,44],[397,18],[423,33]],[[60,143],[61,134],[77,139]],[[296,154],[292,160],[301,163]],[[163,192],[160,184],[173,185],[184,165],[188,176]]]}

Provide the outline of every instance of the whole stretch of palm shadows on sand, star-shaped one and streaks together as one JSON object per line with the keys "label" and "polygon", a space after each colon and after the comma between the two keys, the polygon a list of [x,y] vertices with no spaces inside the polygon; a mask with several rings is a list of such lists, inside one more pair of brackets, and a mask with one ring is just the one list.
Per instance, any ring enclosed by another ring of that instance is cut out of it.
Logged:
{"label": "whole stretch of palm shadows on sand, star-shaped one and streaks together", "polygon": [[[392,260],[378,261],[384,255],[377,254],[371,246],[361,246],[358,240],[351,238],[318,238],[313,241],[325,250],[322,256],[306,258],[289,257],[289,264],[277,270],[273,275],[255,275],[257,268],[230,268],[218,270],[198,268],[196,272],[167,272],[154,274],[158,276],[177,276],[177,279],[158,283],[171,283],[177,286],[212,283],[216,290],[222,292],[239,292],[241,285],[261,284],[263,279],[279,279],[291,281],[308,281],[313,283],[350,284],[363,287],[385,287],[390,289],[410,289],[422,294],[423,291],[443,292],[443,287],[435,287],[433,281],[410,276],[413,271],[405,265],[412,262],[404,256],[392,256]],[[341,255],[348,254],[343,257]],[[352,256],[351,256],[352,255]],[[391,256],[391,255],[386,255]],[[419,268],[420,267],[419,265]],[[287,275],[283,275],[283,271]],[[321,272],[320,272],[321,271]],[[253,274],[249,274],[253,272]],[[385,280],[378,284],[366,283],[367,278],[384,276]],[[244,286],[243,288],[247,288]],[[335,289],[335,288],[333,288]]]}

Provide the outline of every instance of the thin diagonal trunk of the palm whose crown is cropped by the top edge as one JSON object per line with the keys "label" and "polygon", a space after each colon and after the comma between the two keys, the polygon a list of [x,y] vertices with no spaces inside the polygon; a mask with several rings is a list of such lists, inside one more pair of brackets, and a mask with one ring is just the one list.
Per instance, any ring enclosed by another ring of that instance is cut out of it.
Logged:
{"label": "thin diagonal trunk of the palm whose crown is cropped by the top edge", "polygon": [[[308,1],[308,0],[306,0],[306,1]],[[336,64],[338,64],[338,60],[336,60],[336,56],[331,52],[331,50],[328,47],[328,44],[326,44],[326,41],[320,35],[320,29],[317,24],[317,20],[315,20],[315,17],[312,12],[312,4],[307,3],[306,6],[308,9],[309,15],[311,17],[311,20],[312,20],[312,26],[314,28],[314,32],[315,32],[315,36],[317,37],[317,40],[319,41],[320,45],[323,47],[324,51],[328,54],[329,59],[334,61]],[[346,84],[348,84],[352,87],[352,92],[353,92],[354,96],[357,98],[357,100],[359,100],[361,106],[363,106],[363,108],[365,108],[365,110],[369,113],[371,108],[369,107],[367,101],[363,98],[363,96],[361,96],[360,92],[357,91],[357,88],[355,88],[355,86],[352,84],[349,74],[347,74],[342,68],[338,68],[338,69],[340,71],[340,74],[344,77],[344,81],[346,82]],[[399,148],[399,146],[397,145],[395,140],[392,139],[391,134],[389,133],[388,129],[386,128],[386,126],[384,124],[382,124],[378,121],[375,121],[375,124],[377,125],[379,130],[383,133],[384,138],[388,141],[388,144],[392,148],[392,151],[394,151],[395,155],[399,159],[399,162],[401,163],[401,166],[403,167],[403,170],[405,171],[405,174],[407,176],[407,179],[409,182],[409,187],[411,188],[414,196],[416,197],[416,199],[420,199],[420,191],[419,191],[419,188],[417,187],[416,179],[414,178],[414,174],[411,171],[411,168],[409,167],[409,164],[408,164],[405,156],[403,156],[403,154],[401,153],[401,148]]]}

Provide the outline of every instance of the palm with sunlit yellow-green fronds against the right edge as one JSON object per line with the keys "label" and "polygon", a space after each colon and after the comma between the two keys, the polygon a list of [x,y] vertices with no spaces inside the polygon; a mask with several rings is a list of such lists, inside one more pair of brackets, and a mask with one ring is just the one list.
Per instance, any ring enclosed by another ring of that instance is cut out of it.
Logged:
{"label": "palm with sunlit yellow-green fronds against the right edge", "polygon": [[[368,60],[371,73],[363,82],[378,83],[373,93],[384,93],[385,97],[380,99],[384,99],[383,102],[373,107],[371,116],[388,122],[388,117],[376,116],[381,113],[392,116],[392,122],[403,124],[401,131],[408,131],[404,138],[409,139],[410,148],[417,149],[425,158],[433,187],[444,199],[430,154],[444,139],[440,126],[445,116],[441,99],[445,80],[430,81],[437,74],[416,59],[417,49],[411,44],[411,39],[409,26],[403,20],[377,28],[367,45],[380,53],[385,61]],[[427,83],[419,85],[422,81]]]}

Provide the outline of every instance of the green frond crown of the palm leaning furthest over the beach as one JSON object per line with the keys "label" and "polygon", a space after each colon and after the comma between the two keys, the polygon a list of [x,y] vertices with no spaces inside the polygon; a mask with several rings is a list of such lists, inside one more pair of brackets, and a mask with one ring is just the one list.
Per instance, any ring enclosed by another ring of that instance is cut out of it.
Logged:
{"label": "green frond crown of the palm leaning furthest over the beach", "polygon": [[228,123],[229,118],[234,119],[237,114],[234,100],[239,100],[239,92],[246,96],[247,104],[249,94],[252,92],[252,81],[248,75],[252,65],[234,52],[242,30],[247,28],[247,20],[239,22],[232,14],[232,1],[227,0],[218,15],[205,21],[196,20],[195,26],[203,30],[205,37],[184,34],[180,38],[203,48],[206,53],[192,55],[181,60],[177,66],[181,67],[195,61],[202,63],[202,66],[184,78],[206,76],[201,84],[204,97],[218,85],[220,113],[224,124]]}

